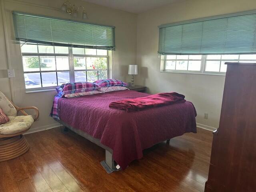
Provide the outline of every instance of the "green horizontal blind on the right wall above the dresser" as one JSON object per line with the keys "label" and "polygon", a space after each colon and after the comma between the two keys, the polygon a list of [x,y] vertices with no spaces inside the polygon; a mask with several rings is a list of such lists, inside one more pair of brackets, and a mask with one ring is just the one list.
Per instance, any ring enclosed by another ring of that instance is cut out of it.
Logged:
{"label": "green horizontal blind on the right wall above the dresser", "polygon": [[159,26],[158,54],[255,54],[256,11]]}

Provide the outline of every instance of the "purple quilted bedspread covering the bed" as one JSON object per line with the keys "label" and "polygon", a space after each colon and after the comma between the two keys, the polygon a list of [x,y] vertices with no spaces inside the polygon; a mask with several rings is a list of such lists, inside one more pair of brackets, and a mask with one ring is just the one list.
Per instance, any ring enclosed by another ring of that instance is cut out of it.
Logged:
{"label": "purple quilted bedspread covering the bed", "polygon": [[109,108],[113,101],[149,94],[120,90],[79,98],[59,98],[60,120],[83,130],[113,150],[114,160],[125,169],[142,158],[142,150],[186,132],[196,133],[196,110],[191,102],[142,111]]}

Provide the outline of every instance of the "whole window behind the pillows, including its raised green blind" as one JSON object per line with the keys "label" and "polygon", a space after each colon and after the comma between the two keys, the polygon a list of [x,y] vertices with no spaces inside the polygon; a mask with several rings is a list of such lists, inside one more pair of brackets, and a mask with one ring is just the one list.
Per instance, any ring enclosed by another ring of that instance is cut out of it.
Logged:
{"label": "whole window behind the pillows, including its raised green blind", "polygon": [[109,77],[115,28],[13,12],[26,92]]}

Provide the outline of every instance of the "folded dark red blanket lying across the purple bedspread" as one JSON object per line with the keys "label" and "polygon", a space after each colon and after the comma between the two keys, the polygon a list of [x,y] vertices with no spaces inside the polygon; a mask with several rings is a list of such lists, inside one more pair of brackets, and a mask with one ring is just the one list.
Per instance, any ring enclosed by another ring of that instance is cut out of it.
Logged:
{"label": "folded dark red blanket lying across the purple bedspread", "polygon": [[111,102],[110,108],[123,109],[126,111],[138,111],[152,107],[160,107],[175,103],[183,103],[185,96],[176,92],[158,93],[146,97],[139,97],[134,99],[125,99]]}

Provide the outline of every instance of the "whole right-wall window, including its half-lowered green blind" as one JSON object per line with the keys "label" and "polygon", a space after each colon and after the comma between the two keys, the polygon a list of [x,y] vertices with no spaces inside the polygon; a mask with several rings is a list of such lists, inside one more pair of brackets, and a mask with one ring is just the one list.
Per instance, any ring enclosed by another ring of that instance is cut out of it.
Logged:
{"label": "whole right-wall window, including its half-lowered green blind", "polygon": [[256,62],[256,11],[159,27],[161,71],[225,74],[225,62]]}

